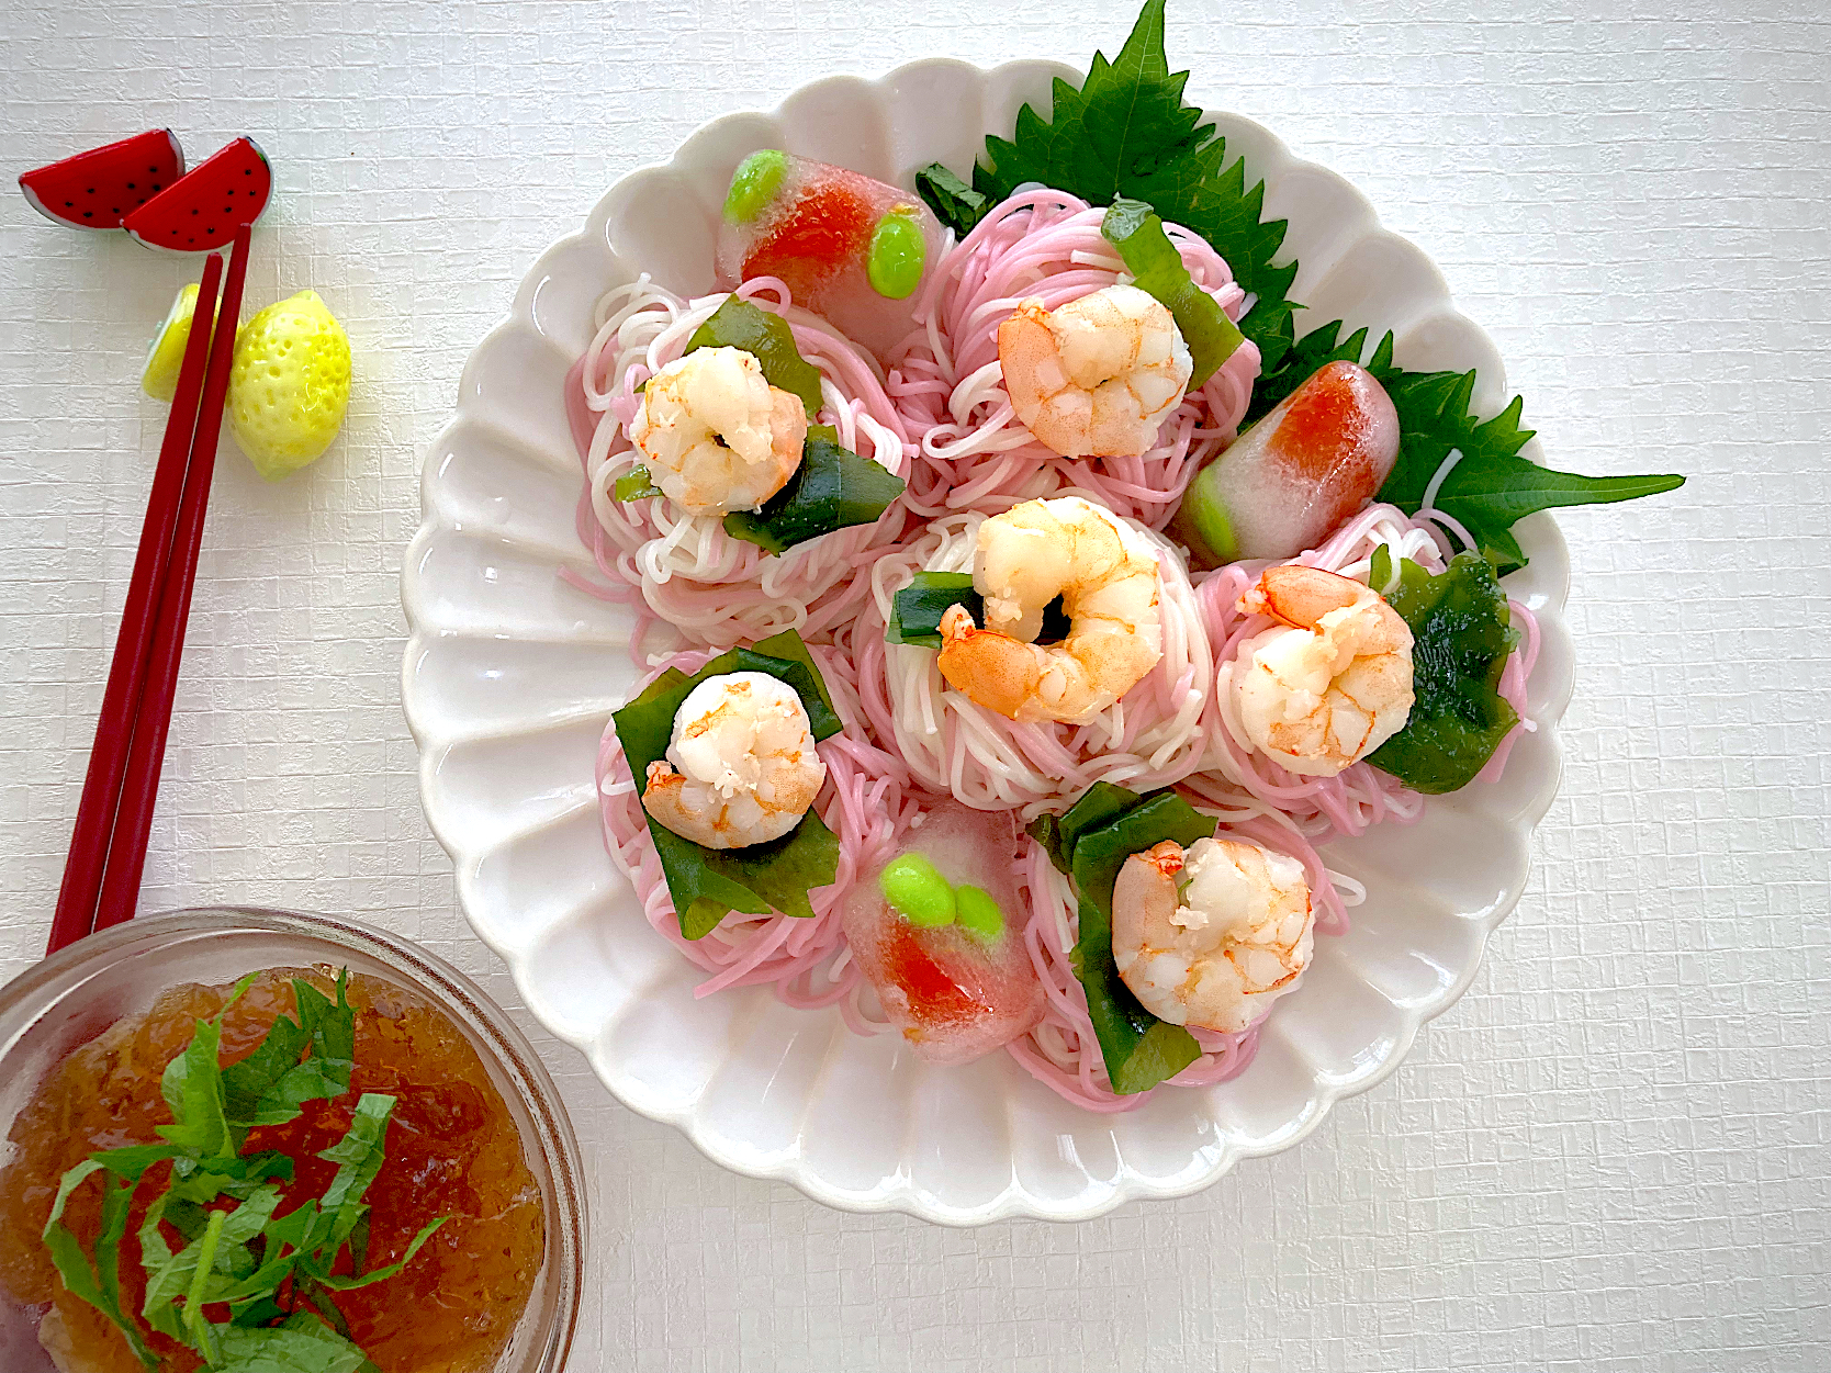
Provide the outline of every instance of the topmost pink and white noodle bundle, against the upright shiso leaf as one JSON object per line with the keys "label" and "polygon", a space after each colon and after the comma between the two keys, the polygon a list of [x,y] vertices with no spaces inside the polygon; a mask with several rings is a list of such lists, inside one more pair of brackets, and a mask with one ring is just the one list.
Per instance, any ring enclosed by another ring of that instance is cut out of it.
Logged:
{"label": "topmost pink and white noodle bundle, against the upright shiso leaf", "polygon": [[[1165,419],[1157,445],[1137,458],[1060,458],[1029,436],[1011,408],[998,364],[998,326],[1040,297],[1046,309],[1126,276],[1100,236],[1102,209],[1060,190],[1024,190],[987,214],[936,267],[905,344],[890,394],[921,452],[908,503],[917,514],[1003,511],[1077,487],[1108,509],[1163,529],[1196,469],[1234,439],[1260,372],[1258,346],[1240,344],[1212,377]],[[1245,291],[1199,234],[1165,225],[1197,286],[1238,320]]]}

